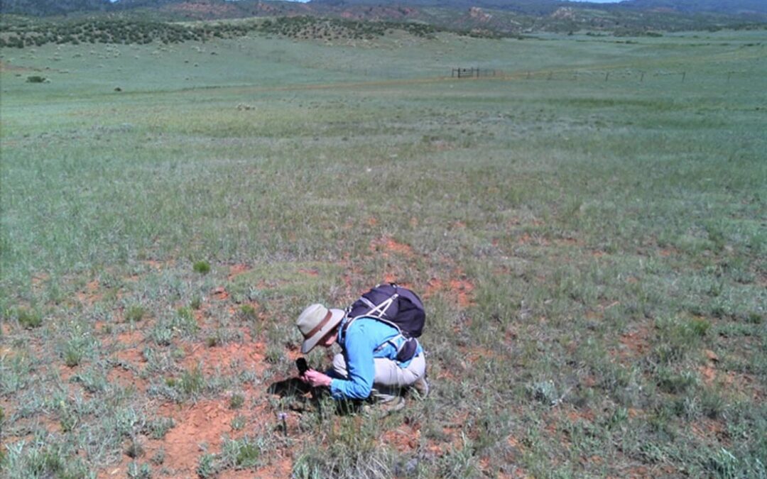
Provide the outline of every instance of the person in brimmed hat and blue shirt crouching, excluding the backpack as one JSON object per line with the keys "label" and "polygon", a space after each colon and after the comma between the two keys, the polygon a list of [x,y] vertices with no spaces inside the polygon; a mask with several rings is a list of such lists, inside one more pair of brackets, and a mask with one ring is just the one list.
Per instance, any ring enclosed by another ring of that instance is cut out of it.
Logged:
{"label": "person in brimmed hat and blue shirt crouching, excluding the backpack", "polygon": [[397,351],[405,341],[397,328],[374,317],[357,317],[347,322],[343,310],[328,309],[321,304],[307,307],[296,321],[304,336],[301,353],[314,346],[341,346],[333,358],[333,368],[324,374],[314,369],[301,379],[314,387],[327,386],[334,399],[368,399],[393,408],[404,405],[400,390],[412,386],[421,397],[429,391],[426,382],[426,358],[420,344],[407,361],[397,360]]}

